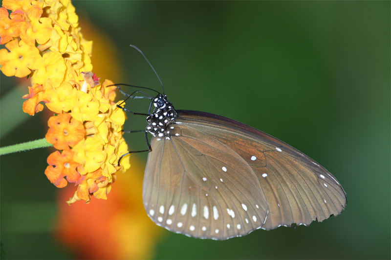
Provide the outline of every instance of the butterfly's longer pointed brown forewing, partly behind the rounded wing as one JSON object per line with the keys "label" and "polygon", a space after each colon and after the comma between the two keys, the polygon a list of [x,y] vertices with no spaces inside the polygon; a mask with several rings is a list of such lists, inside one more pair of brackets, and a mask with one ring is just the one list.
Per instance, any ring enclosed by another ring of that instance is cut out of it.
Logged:
{"label": "butterfly's longer pointed brown forewing, partly behind the rounded wing", "polygon": [[179,111],[177,122],[221,142],[252,167],[268,204],[263,229],[293,223],[308,225],[344,210],[346,193],[336,178],[292,146],[255,128],[212,114]]}

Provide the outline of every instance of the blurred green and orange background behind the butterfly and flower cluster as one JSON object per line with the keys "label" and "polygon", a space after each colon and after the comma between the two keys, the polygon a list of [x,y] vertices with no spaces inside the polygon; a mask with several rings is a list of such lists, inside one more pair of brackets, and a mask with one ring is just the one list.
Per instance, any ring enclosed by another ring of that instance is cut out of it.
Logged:
{"label": "blurred green and orange background behind the butterfly and flower cluster", "polygon": [[[2,259],[390,259],[390,1],[73,1],[101,79],[160,86],[177,109],[233,118],[298,148],[343,185],[348,205],[309,227],[226,241],[155,226],[131,157],[107,201],[68,207],[43,171],[50,149],[2,156]],[[0,75],[1,145],[42,138],[21,81]],[[120,95],[119,98],[122,98]],[[128,102],[147,111],[146,100]],[[125,128],[143,129],[129,115]],[[143,149],[143,135],[126,137]]]}

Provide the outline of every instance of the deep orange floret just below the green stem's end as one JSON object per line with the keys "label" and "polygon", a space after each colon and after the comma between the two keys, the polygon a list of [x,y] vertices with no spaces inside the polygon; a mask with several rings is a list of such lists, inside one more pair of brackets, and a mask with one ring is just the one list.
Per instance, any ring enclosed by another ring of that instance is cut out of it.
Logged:
{"label": "deep orange floret just below the green stem's end", "polygon": [[80,173],[76,170],[79,164],[72,158],[73,152],[71,150],[64,150],[61,154],[59,151],[55,151],[47,157],[49,166],[46,167],[45,174],[57,188],[64,188],[67,184],[66,181],[77,182],[80,179]]}

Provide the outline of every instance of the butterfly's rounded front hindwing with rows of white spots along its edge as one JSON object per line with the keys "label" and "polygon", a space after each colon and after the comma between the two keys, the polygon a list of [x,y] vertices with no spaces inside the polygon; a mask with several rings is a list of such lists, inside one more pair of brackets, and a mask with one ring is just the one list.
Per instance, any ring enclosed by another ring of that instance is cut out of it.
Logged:
{"label": "butterfly's rounded front hindwing with rows of white spots along its edge", "polygon": [[267,202],[253,169],[214,138],[173,127],[170,140],[152,138],[143,187],[151,219],[176,233],[212,239],[261,228]]}

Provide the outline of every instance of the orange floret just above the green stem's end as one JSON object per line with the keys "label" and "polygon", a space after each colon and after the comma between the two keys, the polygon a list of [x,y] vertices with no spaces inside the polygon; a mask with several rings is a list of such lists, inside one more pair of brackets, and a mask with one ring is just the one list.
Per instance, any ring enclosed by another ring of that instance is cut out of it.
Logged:
{"label": "orange floret just above the green stem's end", "polygon": [[70,114],[61,114],[49,118],[47,125],[50,127],[46,134],[47,142],[53,143],[59,150],[69,149],[82,139],[86,131],[83,123],[72,118]]}

